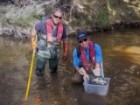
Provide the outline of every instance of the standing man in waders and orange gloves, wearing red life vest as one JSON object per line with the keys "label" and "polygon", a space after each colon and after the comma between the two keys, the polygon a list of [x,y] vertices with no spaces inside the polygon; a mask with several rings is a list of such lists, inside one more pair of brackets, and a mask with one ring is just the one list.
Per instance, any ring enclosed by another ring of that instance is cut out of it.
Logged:
{"label": "standing man in waders and orange gloves, wearing red life vest", "polygon": [[31,43],[32,49],[37,48],[37,76],[43,76],[47,60],[49,61],[50,72],[57,72],[61,42],[63,42],[63,59],[68,57],[68,37],[66,27],[62,22],[62,16],[61,9],[54,9],[51,17],[44,17],[34,26]]}

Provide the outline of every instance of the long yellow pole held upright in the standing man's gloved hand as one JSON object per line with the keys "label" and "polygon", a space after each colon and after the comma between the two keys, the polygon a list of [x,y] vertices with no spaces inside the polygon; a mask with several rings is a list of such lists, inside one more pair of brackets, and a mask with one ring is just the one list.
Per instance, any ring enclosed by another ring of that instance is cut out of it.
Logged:
{"label": "long yellow pole held upright in the standing man's gloved hand", "polygon": [[[35,42],[37,41],[37,35],[35,38]],[[36,49],[33,50],[32,53],[32,59],[31,59],[31,64],[30,64],[30,71],[29,71],[29,77],[28,77],[28,83],[27,83],[27,88],[26,88],[26,94],[25,94],[25,101],[27,101],[28,99],[28,95],[29,95],[29,90],[30,90],[30,85],[31,85],[31,79],[32,79],[32,74],[33,74],[33,69],[34,69],[34,60],[35,60],[35,53],[36,53]]]}

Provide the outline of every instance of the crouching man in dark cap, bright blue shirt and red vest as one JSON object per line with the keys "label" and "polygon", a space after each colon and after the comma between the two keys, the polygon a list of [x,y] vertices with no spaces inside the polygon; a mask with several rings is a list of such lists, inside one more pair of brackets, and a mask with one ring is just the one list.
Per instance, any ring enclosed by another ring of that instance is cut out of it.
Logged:
{"label": "crouching man in dark cap, bright blue shirt and red vest", "polygon": [[102,52],[98,44],[89,40],[85,32],[77,35],[78,47],[73,51],[73,65],[75,75],[72,77],[74,83],[81,83],[83,79],[89,79],[89,73],[102,76]]}

